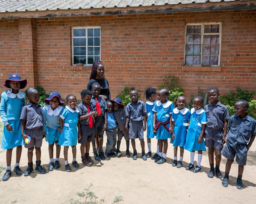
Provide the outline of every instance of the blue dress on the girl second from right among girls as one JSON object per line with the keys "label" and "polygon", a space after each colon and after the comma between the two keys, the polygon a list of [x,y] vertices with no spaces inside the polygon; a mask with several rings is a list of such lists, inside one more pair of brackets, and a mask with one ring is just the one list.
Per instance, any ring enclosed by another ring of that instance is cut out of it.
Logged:
{"label": "blue dress on the girl second from right among girls", "polygon": [[170,143],[173,143],[173,147],[184,147],[187,137],[187,120],[190,119],[190,110],[188,108],[179,110],[177,107],[173,109],[171,116],[172,121],[175,122],[173,129],[175,138]]}

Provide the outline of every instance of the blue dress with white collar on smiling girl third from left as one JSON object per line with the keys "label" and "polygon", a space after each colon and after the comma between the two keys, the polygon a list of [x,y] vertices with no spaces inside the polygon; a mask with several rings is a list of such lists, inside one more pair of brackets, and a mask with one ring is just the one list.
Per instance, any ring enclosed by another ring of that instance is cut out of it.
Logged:
{"label": "blue dress with white collar on smiling girl third from left", "polygon": [[52,145],[55,141],[59,141],[60,133],[60,115],[62,114],[64,108],[62,106],[57,106],[55,110],[51,108],[51,105],[46,105],[43,107],[43,132],[46,137],[45,140]]}

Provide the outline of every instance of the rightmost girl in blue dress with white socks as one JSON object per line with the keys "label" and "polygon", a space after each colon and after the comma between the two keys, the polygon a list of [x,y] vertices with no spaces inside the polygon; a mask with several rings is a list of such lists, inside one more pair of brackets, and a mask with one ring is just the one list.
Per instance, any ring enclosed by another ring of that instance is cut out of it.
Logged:
{"label": "rightmost girl in blue dress with white socks", "polygon": [[194,108],[191,109],[190,123],[184,146],[184,149],[190,151],[190,163],[186,167],[186,170],[190,170],[194,167],[195,151],[198,151],[198,161],[196,167],[193,169],[194,173],[198,173],[201,170],[202,151],[206,151],[203,139],[206,127],[206,113],[202,109],[202,105],[203,98],[196,96],[193,100]]}

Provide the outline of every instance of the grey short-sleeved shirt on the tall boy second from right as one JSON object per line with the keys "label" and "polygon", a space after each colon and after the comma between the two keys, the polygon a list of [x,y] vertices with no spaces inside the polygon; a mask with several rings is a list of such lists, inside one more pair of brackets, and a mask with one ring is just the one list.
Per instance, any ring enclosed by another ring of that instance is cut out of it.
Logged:
{"label": "grey short-sleeved shirt on the tall boy second from right", "polygon": [[206,126],[213,130],[222,130],[224,128],[224,120],[230,118],[228,108],[219,101],[216,105],[207,104],[204,110],[207,117]]}

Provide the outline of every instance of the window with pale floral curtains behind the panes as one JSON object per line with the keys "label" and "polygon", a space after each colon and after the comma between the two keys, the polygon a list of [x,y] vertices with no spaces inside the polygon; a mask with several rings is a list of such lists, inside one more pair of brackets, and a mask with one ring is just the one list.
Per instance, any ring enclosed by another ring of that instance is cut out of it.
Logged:
{"label": "window with pale floral curtains behind the panes", "polygon": [[221,23],[188,23],[185,65],[220,66]]}

